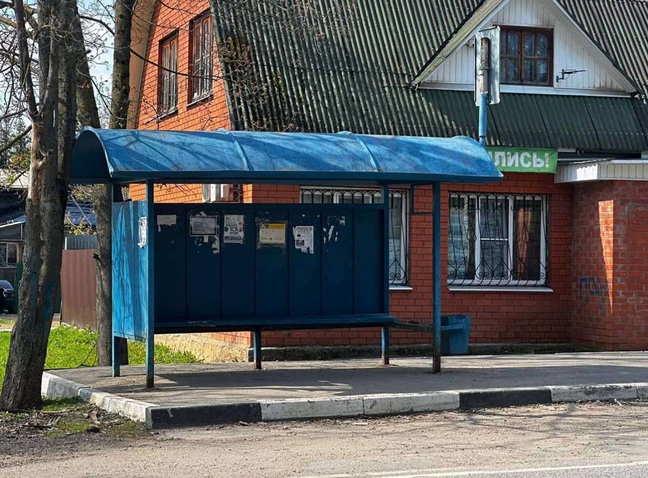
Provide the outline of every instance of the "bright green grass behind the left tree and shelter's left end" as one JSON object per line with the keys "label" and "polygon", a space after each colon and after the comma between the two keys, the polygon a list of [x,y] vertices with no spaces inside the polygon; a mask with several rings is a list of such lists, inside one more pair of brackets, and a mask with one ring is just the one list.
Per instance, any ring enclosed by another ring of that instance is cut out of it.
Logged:
{"label": "bright green grass behind the left tree and shelter's left end", "polygon": [[[9,354],[10,332],[0,332],[0,390],[5,380],[6,359]],[[93,350],[97,334],[90,330],[70,326],[52,329],[47,344],[45,369],[73,369],[80,365],[97,365],[97,352]],[[128,341],[130,365],[144,365],[146,348],[141,342]],[[156,344],[156,363],[197,363],[202,360],[191,352],[175,352]]]}

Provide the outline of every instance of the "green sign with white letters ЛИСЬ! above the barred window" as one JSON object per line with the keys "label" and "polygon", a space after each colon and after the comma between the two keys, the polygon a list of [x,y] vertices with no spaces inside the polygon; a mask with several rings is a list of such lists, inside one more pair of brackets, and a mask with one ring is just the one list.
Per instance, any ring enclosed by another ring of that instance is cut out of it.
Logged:
{"label": "green sign with white letters \u041b\u0418\u0421\u042c! above the barred window", "polygon": [[502,172],[556,172],[557,150],[486,146],[492,162]]}

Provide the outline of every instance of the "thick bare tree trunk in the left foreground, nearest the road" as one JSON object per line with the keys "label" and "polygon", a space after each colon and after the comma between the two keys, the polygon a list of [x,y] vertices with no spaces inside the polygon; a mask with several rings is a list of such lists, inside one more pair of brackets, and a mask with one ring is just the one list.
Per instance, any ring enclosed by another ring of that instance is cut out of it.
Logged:
{"label": "thick bare tree trunk in the left foreground, nearest the road", "polygon": [[32,120],[29,194],[25,205],[25,247],[21,308],[12,330],[0,409],[30,409],[41,405],[54,299],[59,288],[67,185],[76,123],[76,51],[70,31],[75,0],[41,0],[39,82],[37,104],[29,76],[25,12],[22,0],[14,11],[23,36],[21,79]]}

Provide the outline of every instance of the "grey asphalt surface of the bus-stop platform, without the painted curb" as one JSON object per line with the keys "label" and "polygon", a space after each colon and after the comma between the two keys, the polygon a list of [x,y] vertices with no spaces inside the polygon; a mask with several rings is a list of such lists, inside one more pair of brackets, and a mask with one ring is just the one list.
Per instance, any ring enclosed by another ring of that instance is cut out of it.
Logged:
{"label": "grey asphalt surface of the bus-stop platform, without the painted curb", "polygon": [[596,385],[648,381],[648,352],[603,352],[523,356],[463,356],[442,359],[443,372],[431,373],[432,359],[380,359],[197,363],[156,365],[156,388],[145,389],[144,367],[108,367],[52,373],[101,391],[158,405],[222,404],[288,398],[327,398],[376,393],[500,389],[548,385]]}

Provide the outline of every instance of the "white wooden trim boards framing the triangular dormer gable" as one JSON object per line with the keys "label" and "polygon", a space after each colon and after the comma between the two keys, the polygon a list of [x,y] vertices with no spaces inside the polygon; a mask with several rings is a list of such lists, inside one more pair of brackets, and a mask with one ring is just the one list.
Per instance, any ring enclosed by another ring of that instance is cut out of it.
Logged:
{"label": "white wooden trim boards framing the triangular dormer gable", "polygon": [[[472,85],[467,88],[465,82],[438,82],[432,81],[434,73],[448,61],[448,58],[455,54],[459,49],[465,47],[470,40],[474,37],[476,32],[481,28],[487,26],[494,17],[510,3],[511,0],[499,0],[496,3],[485,2],[471,17],[472,21],[468,21],[459,32],[448,42],[448,44],[435,56],[434,60],[417,76],[412,82],[415,86],[421,86],[432,89],[456,89],[465,90],[472,89]],[[547,12],[554,17],[555,21],[562,25],[570,34],[573,35],[577,43],[583,47],[591,58],[599,63],[604,69],[605,73],[619,85],[619,88],[607,89],[588,89],[588,88],[566,88],[556,87],[555,76],[560,74],[560,71],[553,71],[552,85],[548,87],[534,88],[533,93],[547,94],[547,95],[600,95],[603,93],[605,96],[618,96],[621,93],[623,96],[636,93],[636,85],[632,84],[631,80],[625,76],[619,69],[609,60],[607,55],[597,47],[596,43],[592,41],[583,31],[581,27],[574,21],[574,19],[564,10],[564,8],[557,3],[556,0],[533,0],[542,5]],[[519,25],[524,27],[525,25]],[[538,27],[538,25],[533,25]],[[556,39],[554,39],[554,43]],[[469,60],[471,61],[471,60]],[[472,63],[472,61],[471,61]],[[537,90],[537,91],[535,91]],[[522,87],[517,85],[502,85],[502,91],[509,93],[531,93],[529,87]],[[607,92],[607,93],[605,93]],[[625,93],[625,94],[624,94]]]}

